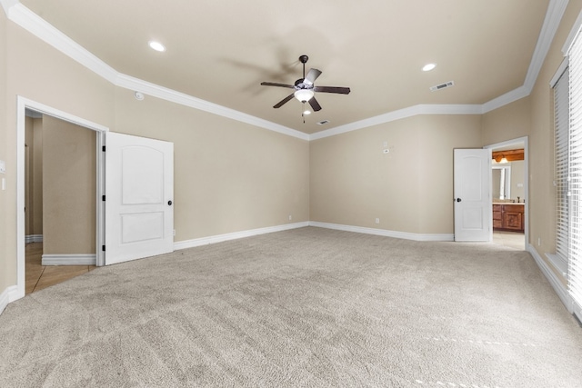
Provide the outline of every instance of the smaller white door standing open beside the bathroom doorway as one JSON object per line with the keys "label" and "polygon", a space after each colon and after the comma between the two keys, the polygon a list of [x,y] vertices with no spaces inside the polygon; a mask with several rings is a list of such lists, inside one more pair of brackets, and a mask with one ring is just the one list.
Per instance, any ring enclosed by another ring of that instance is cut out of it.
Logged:
{"label": "smaller white door standing open beside the bathroom doorway", "polygon": [[454,156],[455,241],[491,241],[491,150],[457,149]]}

